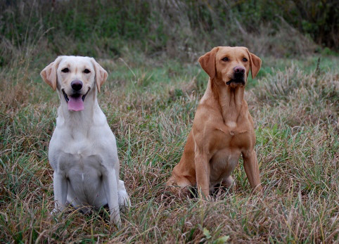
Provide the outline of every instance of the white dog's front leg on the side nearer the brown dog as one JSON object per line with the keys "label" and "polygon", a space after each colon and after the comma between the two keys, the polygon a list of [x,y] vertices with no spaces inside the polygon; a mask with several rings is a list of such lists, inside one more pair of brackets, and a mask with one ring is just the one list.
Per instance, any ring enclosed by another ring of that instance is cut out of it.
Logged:
{"label": "white dog's front leg on the side nearer the brown dog", "polygon": [[117,196],[117,179],[115,176],[115,169],[110,169],[103,175],[103,188],[105,189],[105,196],[108,207],[110,208],[110,221],[119,227],[121,224],[119,211],[119,198]]}

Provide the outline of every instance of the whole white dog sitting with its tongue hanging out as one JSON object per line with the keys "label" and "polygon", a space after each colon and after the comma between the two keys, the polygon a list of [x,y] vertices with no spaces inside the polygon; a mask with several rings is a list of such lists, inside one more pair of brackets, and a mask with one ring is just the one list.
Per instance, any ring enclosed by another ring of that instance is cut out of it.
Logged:
{"label": "whole white dog sitting with its tongue hanging out", "polygon": [[119,180],[115,136],[96,100],[107,72],[94,58],[59,56],[40,75],[58,91],[61,103],[49,143],[53,212],[67,202],[76,208],[108,204],[110,219],[119,226],[120,208],[130,205],[129,196]]}

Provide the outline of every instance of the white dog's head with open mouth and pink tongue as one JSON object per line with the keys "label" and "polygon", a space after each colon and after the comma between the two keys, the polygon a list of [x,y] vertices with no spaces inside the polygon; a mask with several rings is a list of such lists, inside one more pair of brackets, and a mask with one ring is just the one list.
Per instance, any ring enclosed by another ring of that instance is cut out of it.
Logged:
{"label": "white dog's head with open mouth and pink tongue", "polygon": [[40,73],[44,82],[54,91],[58,89],[60,98],[68,103],[68,110],[84,110],[84,100],[89,91],[100,87],[108,77],[107,72],[94,58],[81,56],[59,56]]}

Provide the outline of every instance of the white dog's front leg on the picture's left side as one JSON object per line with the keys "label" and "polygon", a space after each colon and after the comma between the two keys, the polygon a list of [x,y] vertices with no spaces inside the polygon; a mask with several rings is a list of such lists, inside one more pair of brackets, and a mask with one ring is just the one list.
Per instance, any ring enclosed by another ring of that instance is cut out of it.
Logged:
{"label": "white dog's front leg on the picture's left side", "polygon": [[51,214],[59,211],[63,211],[66,205],[67,200],[67,179],[65,176],[58,174],[57,172],[53,173],[53,188],[54,188],[54,201],[55,207]]}

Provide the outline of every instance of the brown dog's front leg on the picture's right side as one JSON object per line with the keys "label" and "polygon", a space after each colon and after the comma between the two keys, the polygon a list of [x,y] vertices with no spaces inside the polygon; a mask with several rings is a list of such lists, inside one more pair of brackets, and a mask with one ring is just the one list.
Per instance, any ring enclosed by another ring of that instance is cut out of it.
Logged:
{"label": "brown dog's front leg on the picture's right side", "polygon": [[255,189],[255,191],[260,191],[262,186],[260,186],[259,165],[257,163],[257,153],[255,153],[255,150],[243,153],[243,167],[245,168],[248,181],[250,181],[250,186]]}

